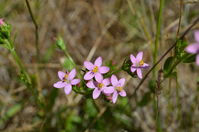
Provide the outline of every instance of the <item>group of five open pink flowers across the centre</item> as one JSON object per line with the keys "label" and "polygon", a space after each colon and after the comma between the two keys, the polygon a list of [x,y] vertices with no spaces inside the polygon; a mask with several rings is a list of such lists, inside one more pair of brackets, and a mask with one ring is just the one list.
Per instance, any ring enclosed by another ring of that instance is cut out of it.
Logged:
{"label": "group of five open pink flowers across the centre", "polygon": [[[132,54],[129,57],[131,72],[137,75],[140,79],[142,78],[142,69],[148,68],[149,65],[143,61],[143,52],[139,52],[136,57]],[[101,94],[105,95],[108,100],[116,103],[118,95],[125,97],[126,91],[124,90],[125,78],[120,78],[115,74],[110,77],[105,77],[106,74],[110,73],[108,66],[103,66],[102,57],[98,57],[94,63],[90,61],[84,62],[86,68],[83,74],[82,81],[85,82],[87,88],[92,89],[93,99],[97,99]],[[64,88],[65,93],[68,95],[72,91],[72,86],[80,83],[80,79],[74,79],[76,76],[76,70],[73,69],[71,72],[58,72],[60,81],[54,84],[55,88]]]}

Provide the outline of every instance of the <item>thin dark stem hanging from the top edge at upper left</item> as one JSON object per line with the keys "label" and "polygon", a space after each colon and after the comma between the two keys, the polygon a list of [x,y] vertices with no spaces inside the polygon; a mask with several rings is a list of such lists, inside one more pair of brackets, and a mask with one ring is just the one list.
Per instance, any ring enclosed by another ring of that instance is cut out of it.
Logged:
{"label": "thin dark stem hanging from the top edge at upper left", "polygon": [[36,48],[36,56],[37,56],[37,61],[39,61],[39,56],[40,56],[40,52],[39,52],[39,32],[38,32],[38,24],[37,21],[32,13],[32,9],[30,7],[30,3],[28,0],[26,0],[26,6],[28,8],[28,12],[30,14],[30,17],[33,21],[33,24],[35,26],[35,48]]}

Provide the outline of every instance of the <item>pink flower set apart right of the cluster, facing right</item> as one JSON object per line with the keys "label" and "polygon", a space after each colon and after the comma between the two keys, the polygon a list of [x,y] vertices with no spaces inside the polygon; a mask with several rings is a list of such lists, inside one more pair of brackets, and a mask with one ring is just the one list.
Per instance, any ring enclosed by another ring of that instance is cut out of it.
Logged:
{"label": "pink flower set apart right of the cluster, facing right", "polygon": [[149,67],[148,64],[144,63],[142,58],[143,52],[139,52],[136,57],[134,57],[132,54],[130,55],[130,59],[132,62],[131,72],[137,71],[137,75],[140,79],[142,78],[142,69]]}

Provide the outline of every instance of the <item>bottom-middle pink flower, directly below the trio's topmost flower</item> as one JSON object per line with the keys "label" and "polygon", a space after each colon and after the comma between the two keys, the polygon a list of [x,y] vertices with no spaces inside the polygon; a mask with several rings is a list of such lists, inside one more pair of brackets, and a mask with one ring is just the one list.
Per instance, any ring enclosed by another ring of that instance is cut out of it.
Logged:
{"label": "bottom-middle pink flower, directly below the trio's topmost flower", "polygon": [[110,79],[106,78],[106,79],[98,79],[96,81],[89,81],[86,86],[89,88],[94,89],[93,91],[93,99],[97,99],[100,94],[102,92],[104,92],[105,94],[110,94],[114,92],[114,88],[113,87],[108,87],[108,85],[110,85]]}

